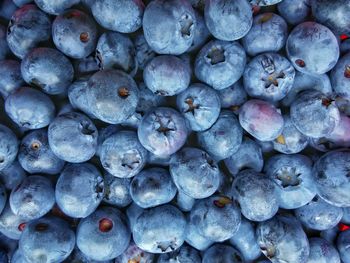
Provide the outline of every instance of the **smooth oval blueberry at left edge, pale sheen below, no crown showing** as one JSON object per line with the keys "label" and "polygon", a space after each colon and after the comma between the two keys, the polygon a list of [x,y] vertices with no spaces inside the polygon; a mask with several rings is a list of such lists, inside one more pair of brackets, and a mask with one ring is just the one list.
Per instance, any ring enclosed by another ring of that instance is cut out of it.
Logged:
{"label": "smooth oval blueberry at left edge, pale sheen below, no crown showing", "polygon": [[7,115],[20,127],[40,129],[54,118],[55,105],[46,94],[29,87],[22,87],[10,94],[5,101]]}

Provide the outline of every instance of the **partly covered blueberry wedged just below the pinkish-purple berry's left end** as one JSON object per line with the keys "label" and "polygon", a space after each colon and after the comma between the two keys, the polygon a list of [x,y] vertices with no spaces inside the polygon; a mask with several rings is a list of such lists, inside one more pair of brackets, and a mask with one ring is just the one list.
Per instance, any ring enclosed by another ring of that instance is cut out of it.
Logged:
{"label": "partly covered blueberry wedged just below the pinkish-purple berry's left end", "polygon": [[252,169],[256,172],[261,172],[264,166],[264,159],[260,146],[247,137],[243,138],[238,150],[225,159],[225,165],[234,176],[243,169]]}

